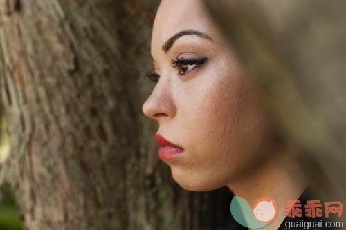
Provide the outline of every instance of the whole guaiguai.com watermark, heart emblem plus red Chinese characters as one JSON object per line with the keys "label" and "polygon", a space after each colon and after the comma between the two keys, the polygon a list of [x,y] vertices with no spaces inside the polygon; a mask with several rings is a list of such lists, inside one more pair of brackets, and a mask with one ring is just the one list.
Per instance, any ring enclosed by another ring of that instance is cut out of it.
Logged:
{"label": "whole guaiguai.com watermark, heart emblem plus red Chinese characters", "polygon": [[[324,205],[322,205],[324,204]],[[260,229],[273,222],[277,216],[277,202],[273,198],[263,197],[257,200],[251,208],[248,202],[239,196],[234,196],[230,202],[230,213],[233,218],[244,227],[251,229]],[[330,215],[341,218],[343,216],[343,204],[340,201],[331,201],[322,203],[321,200],[287,200],[284,206],[286,218],[291,221],[285,222],[286,229],[300,228],[309,229],[309,227],[341,227],[343,222],[309,222],[305,220],[292,221],[294,218],[326,218]]]}

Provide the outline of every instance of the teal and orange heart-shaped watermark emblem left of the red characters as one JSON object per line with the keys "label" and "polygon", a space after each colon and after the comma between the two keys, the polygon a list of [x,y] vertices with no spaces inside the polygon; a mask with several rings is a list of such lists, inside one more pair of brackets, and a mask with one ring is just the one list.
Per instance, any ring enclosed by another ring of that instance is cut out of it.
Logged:
{"label": "teal and orange heart-shaped watermark emblem left of the red characters", "polygon": [[244,198],[234,196],[230,202],[230,213],[244,227],[260,229],[275,220],[277,203],[273,198],[264,197],[257,200],[251,208]]}

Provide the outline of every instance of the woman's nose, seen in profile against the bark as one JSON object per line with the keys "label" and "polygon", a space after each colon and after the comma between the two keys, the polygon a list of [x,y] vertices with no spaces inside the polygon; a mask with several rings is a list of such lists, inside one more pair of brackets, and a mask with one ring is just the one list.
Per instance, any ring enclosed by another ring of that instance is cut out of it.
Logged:
{"label": "woman's nose, seen in profile against the bark", "polygon": [[167,87],[156,87],[152,95],[144,102],[142,106],[143,113],[152,119],[167,119],[174,117],[176,106],[172,99],[172,93]]}

